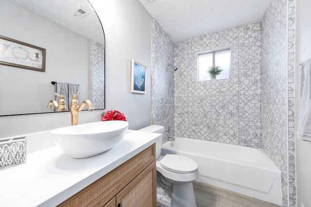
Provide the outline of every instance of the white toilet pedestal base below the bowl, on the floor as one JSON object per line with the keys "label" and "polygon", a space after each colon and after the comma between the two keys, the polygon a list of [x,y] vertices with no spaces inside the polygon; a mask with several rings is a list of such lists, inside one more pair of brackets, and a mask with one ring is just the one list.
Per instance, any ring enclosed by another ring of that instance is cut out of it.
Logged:
{"label": "white toilet pedestal base below the bowl, on the floor", "polygon": [[156,203],[163,207],[197,207],[192,182],[173,182],[172,191],[157,188]]}

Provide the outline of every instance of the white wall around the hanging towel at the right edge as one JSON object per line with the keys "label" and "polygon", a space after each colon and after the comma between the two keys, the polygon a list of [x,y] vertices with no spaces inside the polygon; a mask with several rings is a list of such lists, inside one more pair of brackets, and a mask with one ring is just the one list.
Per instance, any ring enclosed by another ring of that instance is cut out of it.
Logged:
{"label": "white wall around the hanging towel at the right edge", "polygon": [[[311,58],[311,1],[296,1],[295,127],[299,119],[299,63]],[[296,139],[297,206],[311,207],[311,142]]]}

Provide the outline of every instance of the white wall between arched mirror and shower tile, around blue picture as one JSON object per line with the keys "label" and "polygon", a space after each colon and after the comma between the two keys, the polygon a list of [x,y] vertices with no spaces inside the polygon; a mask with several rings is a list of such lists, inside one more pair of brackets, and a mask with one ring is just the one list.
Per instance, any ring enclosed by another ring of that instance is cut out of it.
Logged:
{"label": "white wall between arched mirror and shower tile, around blue picture", "polygon": [[[151,16],[138,0],[89,0],[106,38],[106,110],[124,113],[130,129],[151,123]],[[131,60],[147,67],[146,94],[131,93]]]}

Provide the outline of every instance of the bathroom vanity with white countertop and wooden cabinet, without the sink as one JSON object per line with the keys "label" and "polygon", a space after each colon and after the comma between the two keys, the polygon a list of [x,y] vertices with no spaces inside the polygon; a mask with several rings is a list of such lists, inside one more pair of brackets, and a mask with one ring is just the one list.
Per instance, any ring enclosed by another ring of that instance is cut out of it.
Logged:
{"label": "bathroom vanity with white countertop and wooden cabinet, without the sink", "polygon": [[3,206],[156,206],[155,142],[161,134],[128,130],[108,152],[74,159],[54,146],[0,169]]}

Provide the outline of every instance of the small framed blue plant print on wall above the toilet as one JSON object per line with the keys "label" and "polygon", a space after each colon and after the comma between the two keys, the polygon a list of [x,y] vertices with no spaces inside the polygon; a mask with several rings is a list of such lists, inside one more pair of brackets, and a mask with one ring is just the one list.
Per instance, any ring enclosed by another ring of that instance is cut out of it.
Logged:
{"label": "small framed blue plant print on wall above the toilet", "polygon": [[132,60],[131,92],[146,93],[146,67]]}

